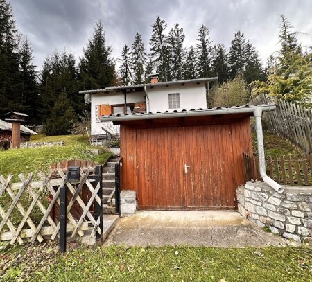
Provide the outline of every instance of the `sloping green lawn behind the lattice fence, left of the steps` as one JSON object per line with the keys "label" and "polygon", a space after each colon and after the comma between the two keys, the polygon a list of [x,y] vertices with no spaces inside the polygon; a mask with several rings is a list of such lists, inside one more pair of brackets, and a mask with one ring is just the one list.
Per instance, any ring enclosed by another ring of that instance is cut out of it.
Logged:
{"label": "sloping green lawn behind the lattice fence, left of the steps", "polygon": [[99,156],[92,155],[89,149],[94,146],[90,146],[87,136],[83,135],[44,136],[40,134],[32,136],[31,141],[64,141],[65,145],[0,151],[0,175],[6,177],[12,173],[14,179],[17,179],[19,173],[36,173],[39,170],[46,172],[51,164],[69,159],[87,159],[101,164],[111,155],[106,151]]}

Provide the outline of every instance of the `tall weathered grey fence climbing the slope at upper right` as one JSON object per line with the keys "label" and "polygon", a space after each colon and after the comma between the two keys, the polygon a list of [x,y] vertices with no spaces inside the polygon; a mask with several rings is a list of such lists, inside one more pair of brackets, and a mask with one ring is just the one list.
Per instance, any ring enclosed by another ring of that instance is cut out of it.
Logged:
{"label": "tall weathered grey fence climbing the slope at upper right", "polygon": [[[249,105],[272,103],[265,95],[252,99]],[[273,101],[274,103],[274,101]],[[264,112],[265,130],[283,136],[300,147],[306,154],[312,152],[312,109],[280,100],[277,109]]]}

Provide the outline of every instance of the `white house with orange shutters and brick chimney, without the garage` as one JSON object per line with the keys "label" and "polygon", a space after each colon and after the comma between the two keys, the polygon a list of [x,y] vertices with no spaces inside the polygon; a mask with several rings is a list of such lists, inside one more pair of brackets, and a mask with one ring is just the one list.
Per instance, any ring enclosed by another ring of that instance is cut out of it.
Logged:
{"label": "white house with orange shutters and brick chimney, without the garage", "polygon": [[150,83],[80,91],[80,94],[91,100],[91,135],[96,139],[105,134],[103,128],[119,134],[119,126],[101,121],[101,116],[205,108],[209,82],[215,81],[217,78],[159,82],[155,73],[150,75]]}

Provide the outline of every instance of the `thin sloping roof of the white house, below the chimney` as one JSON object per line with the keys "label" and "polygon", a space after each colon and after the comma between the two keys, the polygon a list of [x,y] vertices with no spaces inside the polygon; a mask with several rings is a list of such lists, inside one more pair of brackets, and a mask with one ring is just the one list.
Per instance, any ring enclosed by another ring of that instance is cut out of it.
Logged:
{"label": "thin sloping roof of the white house, below the chimney", "polygon": [[217,81],[218,78],[197,78],[197,79],[189,79],[189,80],[175,80],[175,81],[165,81],[165,82],[157,82],[157,83],[144,83],[140,85],[122,85],[122,86],[112,86],[106,87],[104,89],[94,89],[94,90],[85,90],[80,91],[80,94],[87,93],[98,93],[105,91],[116,91],[116,90],[126,90],[126,89],[144,89],[144,87],[160,87],[166,85],[180,85],[180,84],[188,84],[188,83],[200,83],[200,82],[209,82],[209,81]]}

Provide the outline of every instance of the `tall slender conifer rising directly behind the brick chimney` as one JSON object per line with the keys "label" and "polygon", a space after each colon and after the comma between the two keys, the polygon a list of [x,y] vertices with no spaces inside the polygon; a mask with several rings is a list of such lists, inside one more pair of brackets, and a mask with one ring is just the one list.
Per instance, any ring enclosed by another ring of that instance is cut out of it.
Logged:
{"label": "tall slender conifer rising directly behind the brick chimney", "polygon": [[168,69],[168,46],[165,30],[167,24],[164,19],[158,16],[152,25],[152,35],[150,37],[150,58],[153,67],[159,73],[161,81],[167,81],[166,73]]}

